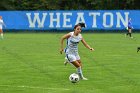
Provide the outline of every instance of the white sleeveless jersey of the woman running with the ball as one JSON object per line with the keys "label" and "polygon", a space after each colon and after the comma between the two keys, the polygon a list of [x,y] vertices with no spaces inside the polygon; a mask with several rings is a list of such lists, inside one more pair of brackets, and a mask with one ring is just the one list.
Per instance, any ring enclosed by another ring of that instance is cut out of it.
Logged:
{"label": "white sleeveless jersey of the woman running with the ball", "polygon": [[74,32],[70,32],[70,37],[67,39],[67,47],[65,49],[66,54],[78,54],[78,43],[82,40],[82,35],[74,35]]}

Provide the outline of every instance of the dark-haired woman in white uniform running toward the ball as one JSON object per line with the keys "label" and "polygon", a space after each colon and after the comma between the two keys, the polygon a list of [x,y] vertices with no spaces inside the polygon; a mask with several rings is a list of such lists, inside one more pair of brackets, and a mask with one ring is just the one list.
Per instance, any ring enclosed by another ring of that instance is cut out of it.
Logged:
{"label": "dark-haired woman in white uniform running toward the ball", "polygon": [[61,42],[60,42],[61,43],[60,53],[62,54],[62,52],[64,50],[63,42],[65,39],[67,39],[67,47],[65,48],[66,59],[68,60],[68,62],[70,62],[77,68],[77,73],[78,73],[80,79],[88,80],[87,78],[85,78],[83,76],[83,73],[82,73],[82,69],[81,69],[82,63],[80,60],[80,56],[78,54],[78,43],[81,41],[83,43],[83,45],[86,48],[88,48],[89,50],[93,51],[94,49],[86,43],[86,41],[80,34],[82,27],[85,27],[85,24],[79,23],[74,26],[73,32],[70,32],[70,33],[62,36]]}

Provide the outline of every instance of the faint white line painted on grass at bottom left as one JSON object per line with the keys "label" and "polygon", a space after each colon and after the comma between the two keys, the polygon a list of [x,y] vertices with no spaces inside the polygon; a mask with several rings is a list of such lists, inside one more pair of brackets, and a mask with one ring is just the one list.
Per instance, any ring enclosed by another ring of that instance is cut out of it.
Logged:
{"label": "faint white line painted on grass at bottom left", "polygon": [[12,86],[12,85],[0,85],[0,87],[15,87],[15,88],[29,88],[29,89],[43,89],[43,90],[70,90],[67,88],[45,88],[45,87],[35,87],[35,86]]}

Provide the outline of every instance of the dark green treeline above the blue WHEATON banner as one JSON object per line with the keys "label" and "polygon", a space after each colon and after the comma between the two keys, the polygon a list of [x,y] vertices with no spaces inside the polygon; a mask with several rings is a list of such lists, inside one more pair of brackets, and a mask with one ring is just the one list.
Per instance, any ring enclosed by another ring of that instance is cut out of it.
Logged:
{"label": "dark green treeline above the blue WHEATON banner", "polygon": [[0,10],[135,10],[139,0],[1,0]]}

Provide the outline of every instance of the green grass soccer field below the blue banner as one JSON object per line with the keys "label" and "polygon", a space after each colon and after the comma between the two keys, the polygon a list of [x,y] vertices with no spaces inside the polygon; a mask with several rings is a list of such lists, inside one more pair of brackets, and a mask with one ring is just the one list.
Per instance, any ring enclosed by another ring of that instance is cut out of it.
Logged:
{"label": "green grass soccer field below the blue banner", "polygon": [[73,84],[76,69],[64,66],[59,54],[65,33],[5,33],[0,40],[0,93],[140,93],[140,34],[83,33],[94,52],[79,43],[83,74],[88,81]]}

